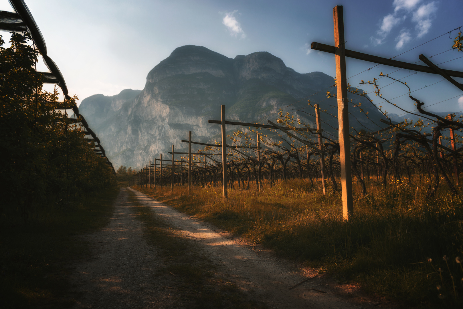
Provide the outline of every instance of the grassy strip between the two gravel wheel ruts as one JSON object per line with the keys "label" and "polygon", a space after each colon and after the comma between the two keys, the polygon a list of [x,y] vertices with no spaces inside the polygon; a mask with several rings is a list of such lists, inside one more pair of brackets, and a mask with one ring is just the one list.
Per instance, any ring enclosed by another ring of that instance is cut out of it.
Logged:
{"label": "grassy strip between the two gravel wheel ruts", "polygon": [[[165,265],[158,276],[175,278],[175,284],[163,288],[181,296],[176,302],[181,302],[182,307],[266,308],[221,275],[217,265],[193,244],[193,240],[185,239],[166,221],[159,219],[149,206],[139,203],[133,193],[130,193],[129,201],[135,205],[137,218],[144,224],[148,243],[156,247],[158,259],[162,259]],[[177,305],[180,304],[169,303],[172,308]]]}

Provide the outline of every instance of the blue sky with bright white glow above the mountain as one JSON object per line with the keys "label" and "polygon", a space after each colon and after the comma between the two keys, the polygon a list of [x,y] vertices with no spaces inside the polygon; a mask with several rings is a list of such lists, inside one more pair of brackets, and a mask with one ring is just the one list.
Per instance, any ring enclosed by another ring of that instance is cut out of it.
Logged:
{"label": "blue sky with bright white glow above the mountain", "polygon": [[[463,52],[451,50],[463,26],[462,0],[25,0],[70,95],[116,95],[143,89],[148,72],[177,47],[194,44],[234,58],[256,51],[280,57],[300,73],[335,76],[334,56],[310,49],[334,45],[333,7],[344,8],[345,47],[370,55],[422,64],[424,54],[443,69],[463,71]],[[7,0],[0,10],[13,11]],[[454,30],[454,31],[452,31]],[[452,31],[451,33],[448,33]],[[7,32],[0,32],[6,41]],[[7,42],[7,41],[6,41]],[[6,44],[8,46],[8,43]],[[396,56],[396,57],[395,57]],[[459,58],[462,57],[462,58]],[[47,71],[44,64],[38,69]],[[369,69],[369,70],[368,70]],[[347,59],[348,82],[380,73],[407,82],[429,111],[463,111],[463,92],[441,76]],[[457,79],[463,83],[463,79]],[[407,88],[382,77],[383,96],[412,110]],[[392,83],[392,84],[391,84]],[[375,97],[389,113],[396,106]],[[48,85],[49,89],[53,86]],[[316,103],[316,102],[312,102]]]}

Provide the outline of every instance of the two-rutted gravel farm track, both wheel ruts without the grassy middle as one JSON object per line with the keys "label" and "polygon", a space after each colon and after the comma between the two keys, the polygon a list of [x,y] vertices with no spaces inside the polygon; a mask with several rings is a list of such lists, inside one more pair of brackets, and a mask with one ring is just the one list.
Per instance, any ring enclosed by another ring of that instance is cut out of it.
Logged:
{"label": "two-rutted gravel farm track, both wheel ruts without the grassy middle", "polygon": [[[75,308],[183,307],[175,300],[181,295],[163,289],[169,280],[156,275],[164,265],[143,237],[143,224],[132,210],[133,202],[128,202],[130,193],[203,250],[226,280],[269,308],[391,308],[363,295],[358,286],[336,284],[315,270],[300,269],[130,188],[121,189],[109,226],[88,236],[95,258],[76,266],[75,292],[81,297]],[[289,290],[310,277],[314,278]],[[173,302],[176,307],[171,307]]]}

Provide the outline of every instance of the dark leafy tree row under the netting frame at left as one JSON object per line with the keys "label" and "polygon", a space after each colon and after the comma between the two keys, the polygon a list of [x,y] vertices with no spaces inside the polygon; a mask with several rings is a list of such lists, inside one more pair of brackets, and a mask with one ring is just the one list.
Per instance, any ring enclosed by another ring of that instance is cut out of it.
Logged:
{"label": "dark leafy tree row under the netting frame at left", "polygon": [[[106,160],[94,154],[80,126],[58,110],[58,93],[42,90],[35,69],[38,50],[28,33],[12,33],[11,47],[0,41],[0,215],[77,205],[82,195],[111,186]],[[74,104],[73,97],[64,104]]]}

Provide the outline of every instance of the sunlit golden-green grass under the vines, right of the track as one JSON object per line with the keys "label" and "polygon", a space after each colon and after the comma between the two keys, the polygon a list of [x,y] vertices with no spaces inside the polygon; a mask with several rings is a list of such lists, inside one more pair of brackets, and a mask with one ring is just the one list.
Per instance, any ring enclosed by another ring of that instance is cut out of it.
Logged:
{"label": "sunlit golden-green grass under the vines, right of the track", "polygon": [[[418,183],[418,181],[417,181]],[[291,180],[255,190],[142,189],[190,215],[321,271],[359,282],[370,293],[407,306],[463,305],[463,199],[443,186],[427,199],[417,184],[354,184],[356,215],[341,219],[341,197]],[[425,187],[418,183],[420,187]],[[461,189],[461,188],[460,188]]]}

